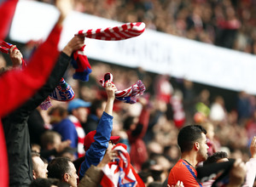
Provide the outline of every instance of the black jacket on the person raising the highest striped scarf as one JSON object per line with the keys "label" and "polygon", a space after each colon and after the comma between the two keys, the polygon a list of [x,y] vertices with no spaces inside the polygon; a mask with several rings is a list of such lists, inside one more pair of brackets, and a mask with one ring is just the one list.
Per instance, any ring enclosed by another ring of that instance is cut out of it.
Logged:
{"label": "black jacket on the person raising the highest striped scarf", "polygon": [[32,158],[27,119],[32,111],[55,89],[70,60],[67,54],[61,53],[44,87],[19,109],[3,119],[9,158],[9,186],[28,186],[31,184]]}

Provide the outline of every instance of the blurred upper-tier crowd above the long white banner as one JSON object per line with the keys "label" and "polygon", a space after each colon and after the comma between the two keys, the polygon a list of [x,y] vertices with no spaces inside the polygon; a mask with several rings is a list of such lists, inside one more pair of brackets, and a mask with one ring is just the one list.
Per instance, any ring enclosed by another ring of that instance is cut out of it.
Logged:
{"label": "blurred upper-tier crowd above the long white banner", "polygon": [[[42,0],[52,3],[51,0]],[[255,54],[253,0],[75,0],[74,9],[148,29]]]}

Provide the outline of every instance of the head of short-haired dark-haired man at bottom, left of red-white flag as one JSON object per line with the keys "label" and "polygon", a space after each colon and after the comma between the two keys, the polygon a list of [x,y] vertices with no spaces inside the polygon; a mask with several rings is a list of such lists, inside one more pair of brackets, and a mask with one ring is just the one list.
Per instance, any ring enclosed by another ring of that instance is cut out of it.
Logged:
{"label": "head of short-haired dark-haired man at bottom, left of red-white flag", "polygon": [[72,187],[77,187],[77,170],[73,162],[66,157],[57,157],[49,162],[48,178],[58,178]]}

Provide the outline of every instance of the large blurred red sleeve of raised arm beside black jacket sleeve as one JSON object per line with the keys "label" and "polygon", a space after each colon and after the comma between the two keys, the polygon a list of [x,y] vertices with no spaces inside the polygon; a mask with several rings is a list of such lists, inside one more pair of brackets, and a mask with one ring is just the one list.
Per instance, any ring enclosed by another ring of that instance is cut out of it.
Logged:
{"label": "large blurred red sleeve of raised arm beside black jacket sleeve", "polygon": [[0,77],[0,116],[23,104],[44,85],[60,54],[58,43],[61,29],[61,26],[55,26],[24,71],[8,71]]}

